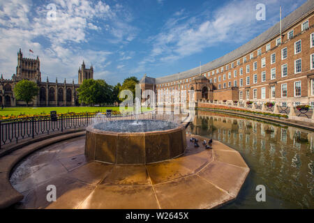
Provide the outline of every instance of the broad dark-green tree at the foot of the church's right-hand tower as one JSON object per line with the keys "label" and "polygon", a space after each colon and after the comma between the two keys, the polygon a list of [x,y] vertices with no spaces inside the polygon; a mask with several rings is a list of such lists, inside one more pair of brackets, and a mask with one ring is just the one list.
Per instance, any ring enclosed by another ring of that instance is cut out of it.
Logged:
{"label": "broad dark-green tree at the foot of the church's right-hand tower", "polygon": [[110,102],[112,88],[103,79],[84,79],[77,89],[79,102],[95,105]]}

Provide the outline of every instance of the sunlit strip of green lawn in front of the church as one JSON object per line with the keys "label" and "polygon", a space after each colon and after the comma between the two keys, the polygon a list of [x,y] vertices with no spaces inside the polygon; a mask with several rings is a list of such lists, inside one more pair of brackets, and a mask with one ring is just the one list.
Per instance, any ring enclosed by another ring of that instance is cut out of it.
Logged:
{"label": "sunlit strip of green lawn in front of the church", "polygon": [[[82,113],[82,112],[106,112],[106,109],[112,109],[112,111],[119,111],[119,107],[5,107],[0,108],[0,116],[18,116],[24,115],[41,115],[50,114],[50,111],[57,111],[59,113]],[[130,108],[129,111],[133,111]]]}

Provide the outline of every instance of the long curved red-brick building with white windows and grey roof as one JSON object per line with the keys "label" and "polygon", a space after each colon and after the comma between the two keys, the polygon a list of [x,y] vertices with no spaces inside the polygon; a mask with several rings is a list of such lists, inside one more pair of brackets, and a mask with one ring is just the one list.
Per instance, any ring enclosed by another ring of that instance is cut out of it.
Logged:
{"label": "long curved red-brick building with white windows and grey roof", "polygon": [[[195,100],[314,104],[314,1],[253,40],[201,68],[141,79],[142,90],[195,90]],[[200,72],[201,70],[201,72]],[[202,76],[202,77],[198,77]]]}

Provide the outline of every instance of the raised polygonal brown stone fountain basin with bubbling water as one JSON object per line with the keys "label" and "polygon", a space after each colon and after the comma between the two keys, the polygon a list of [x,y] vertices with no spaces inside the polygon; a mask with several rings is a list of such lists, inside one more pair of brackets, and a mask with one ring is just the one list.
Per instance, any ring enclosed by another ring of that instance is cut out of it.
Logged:
{"label": "raised polygonal brown stone fountain basin with bubbling water", "polygon": [[163,120],[116,120],[87,128],[85,155],[111,164],[148,164],[179,157],[186,128]]}

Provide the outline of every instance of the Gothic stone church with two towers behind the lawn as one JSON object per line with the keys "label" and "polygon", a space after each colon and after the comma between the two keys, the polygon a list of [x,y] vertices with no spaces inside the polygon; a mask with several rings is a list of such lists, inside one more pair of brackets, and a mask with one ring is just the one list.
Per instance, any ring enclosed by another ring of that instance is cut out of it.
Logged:
{"label": "Gothic stone church with two towers behind the lawn", "polygon": [[38,85],[39,91],[36,98],[29,102],[29,106],[33,107],[54,107],[54,106],[78,106],[80,105],[77,97],[77,89],[84,79],[93,79],[94,69],[91,66],[89,69],[85,67],[84,61],[78,70],[79,83],[74,84],[58,82],[50,82],[48,77],[46,82],[41,80],[40,61],[36,59],[24,58],[20,49],[17,52],[17,67],[16,74],[11,79],[0,79],[0,105],[5,107],[10,106],[26,106],[24,101],[16,100],[13,89],[15,84],[22,79],[28,79]]}

